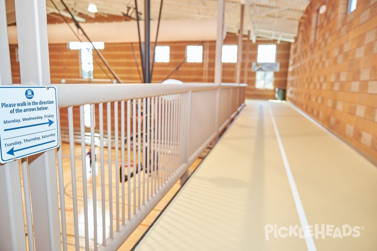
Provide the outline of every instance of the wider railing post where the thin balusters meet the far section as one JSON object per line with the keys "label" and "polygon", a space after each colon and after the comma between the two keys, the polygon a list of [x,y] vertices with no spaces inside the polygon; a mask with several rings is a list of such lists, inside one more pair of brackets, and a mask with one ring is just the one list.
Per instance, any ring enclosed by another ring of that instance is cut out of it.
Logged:
{"label": "wider railing post where the thin balusters meet the far section", "polygon": [[189,178],[189,158],[190,158],[190,154],[189,154],[189,147],[190,147],[190,116],[191,116],[191,97],[192,97],[192,92],[189,91],[187,94],[186,94],[186,100],[185,103],[184,103],[184,142],[182,143],[183,144],[183,147],[184,147],[184,161],[185,163],[187,164],[187,170],[186,172],[181,176],[181,186],[185,183],[185,181],[187,180],[187,178]]}

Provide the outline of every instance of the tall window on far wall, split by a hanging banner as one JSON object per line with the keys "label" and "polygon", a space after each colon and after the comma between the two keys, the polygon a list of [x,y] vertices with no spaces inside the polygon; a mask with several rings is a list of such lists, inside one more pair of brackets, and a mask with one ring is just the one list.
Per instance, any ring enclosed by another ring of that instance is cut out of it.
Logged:
{"label": "tall window on far wall, split by a hanging banner", "polygon": [[[276,44],[260,44],[257,51],[258,63],[276,62]],[[255,74],[255,88],[273,90],[274,72],[257,71]]]}

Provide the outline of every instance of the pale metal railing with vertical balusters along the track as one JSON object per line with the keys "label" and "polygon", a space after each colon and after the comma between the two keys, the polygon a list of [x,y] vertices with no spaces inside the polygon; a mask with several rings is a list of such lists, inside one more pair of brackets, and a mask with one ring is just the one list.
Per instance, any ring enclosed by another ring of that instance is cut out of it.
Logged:
{"label": "pale metal railing with vertical balusters along the track", "polygon": [[[62,149],[67,145],[57,149],[63,250],[118,249],[231,122],[245,93],[245,85],[236,84],[55,86],[59,108],[67,109],[69,131],[69,156]],[[84,126],[87,104],[89,147]],[[79,123],[74,118],[80,118]],[[77,133],[81,152],[75,150]],[[67,176],[69,183],[64,182]],[[31,222],[27,225],[32,240],[38,229],[32,229]],[[74,230],[70,240],[67,228]],[[33,247],[29,241],[29,250]]]}

